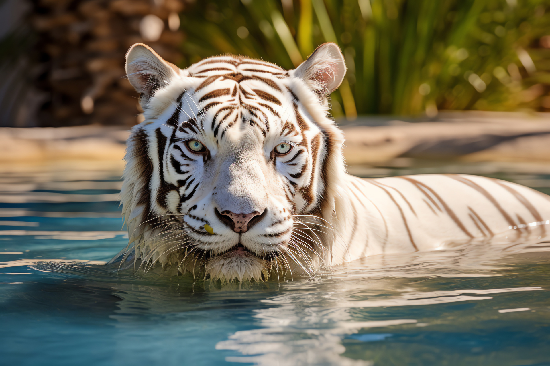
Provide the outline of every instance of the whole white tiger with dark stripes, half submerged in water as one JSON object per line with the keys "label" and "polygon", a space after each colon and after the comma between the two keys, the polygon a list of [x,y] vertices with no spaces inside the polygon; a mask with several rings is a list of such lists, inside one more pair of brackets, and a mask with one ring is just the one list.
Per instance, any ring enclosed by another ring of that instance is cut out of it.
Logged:
{"label": "whole white tiger with dark stripes, half submerged in water", "polygon": [[507,230],[510,241],[546,236],[550,197],[521,185],[347,174],[327,112],[346,70],[334,43],[290,71],[233,55],[180,70],[138,43],[126,70],[145,121],[125,156],[129,247],[112,262],[262,280]]}

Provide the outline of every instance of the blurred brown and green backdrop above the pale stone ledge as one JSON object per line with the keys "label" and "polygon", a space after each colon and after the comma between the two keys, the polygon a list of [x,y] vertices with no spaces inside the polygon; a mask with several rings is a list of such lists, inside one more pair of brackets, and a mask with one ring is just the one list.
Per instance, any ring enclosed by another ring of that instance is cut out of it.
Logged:
{"label": "blurred brown and green backdrop above the pale stone ledge", "polygon": [[337,120],[550,111],[548,0],[3,0],[0,126],[132,126],[124,53],[223,53],[292,69],[323,42],[348,74]]}

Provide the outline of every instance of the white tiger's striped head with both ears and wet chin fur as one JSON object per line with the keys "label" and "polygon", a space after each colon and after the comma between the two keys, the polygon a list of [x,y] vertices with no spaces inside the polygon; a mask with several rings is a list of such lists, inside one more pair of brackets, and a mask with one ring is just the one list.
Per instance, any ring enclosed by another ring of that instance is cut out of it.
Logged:
{"label": "white tiger's striped head with both ears and wet chin fur", "polygon": [[140,266],[242,281],[330,261],[344,174],[327,117],[345,75],[336,44],[290,71],[234,55],[181,70],[135,44],[126,71],[145,117],[122,188]]}

